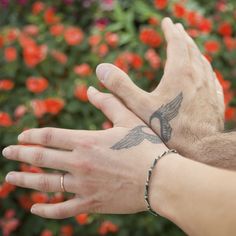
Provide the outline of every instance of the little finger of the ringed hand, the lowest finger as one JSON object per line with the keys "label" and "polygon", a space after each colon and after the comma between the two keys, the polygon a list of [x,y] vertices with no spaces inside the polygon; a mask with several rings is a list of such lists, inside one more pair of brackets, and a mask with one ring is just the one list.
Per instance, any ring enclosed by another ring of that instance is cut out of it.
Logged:
{"label": "little finger of the ringed hand, the lowest finger", "polygon": [[92,201],[73,198],[56,204],[35,204],[31,212],[50,219],[65,219],[80,213],[89,213]]}

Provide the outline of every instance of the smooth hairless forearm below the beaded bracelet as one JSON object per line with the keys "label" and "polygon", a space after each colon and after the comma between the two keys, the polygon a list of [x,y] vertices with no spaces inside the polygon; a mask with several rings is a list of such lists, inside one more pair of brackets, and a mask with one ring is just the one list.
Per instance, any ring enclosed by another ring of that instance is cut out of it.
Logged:
{"label": "smooth hairless forearm below the beaded bracelet", "polygon": [[153,172],[151,205],[188,235],[236,234],[236,174],[176,155]]}

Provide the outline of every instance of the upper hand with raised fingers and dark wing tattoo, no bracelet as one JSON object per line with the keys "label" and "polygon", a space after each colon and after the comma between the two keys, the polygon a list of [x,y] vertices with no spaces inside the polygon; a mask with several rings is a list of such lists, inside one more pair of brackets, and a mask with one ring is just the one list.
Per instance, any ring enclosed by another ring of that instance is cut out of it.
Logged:
{"label": "upper hand with raised fingers and dark wing tattoo, no bracelet", "polygon": [[162,80],[153,92],[138,88],[112,64],[100,64],[97,76],[169,147],[197,159],[195,151],[202,138],[223,130],[223,91],[210,63],[183,26],[166,18],[162,28],[167,61]]}

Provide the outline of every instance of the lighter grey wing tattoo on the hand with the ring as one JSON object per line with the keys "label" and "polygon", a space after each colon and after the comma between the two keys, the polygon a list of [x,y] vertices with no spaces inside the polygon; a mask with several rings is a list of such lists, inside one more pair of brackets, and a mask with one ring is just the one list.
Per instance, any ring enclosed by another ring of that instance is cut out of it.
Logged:
{"label": "lighter grey wing tattoo on the hand with the ring", "polygon": [[151,143],[162,143],[157,135],[149,134],[143,131],[143,128],[148,128],[146,125],[139,125],[129,131],[129,133],[121,139],[118,143],[114,144],[111,149],[120,150],[128,149],[139,145],[145,139]]}

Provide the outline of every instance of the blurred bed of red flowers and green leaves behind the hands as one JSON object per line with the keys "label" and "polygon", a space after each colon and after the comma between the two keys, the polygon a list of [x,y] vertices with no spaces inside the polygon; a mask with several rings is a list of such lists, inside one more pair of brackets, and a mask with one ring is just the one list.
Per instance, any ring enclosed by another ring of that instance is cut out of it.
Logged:
{"label": "blurred bed of red flowers and green leaves behind the hands", "polygon": [[[203,3],[201,5],[201,2]],[[226,128],[236,120],[236,10],[234,1],[0,0],[0,149],[32,127],[106,129],[110,121],[88,103],[87,88],[104,90],[95,67],[111,62],[151,91],[165,62],[160,21],[182,22],[213,63],[223,85]],[[13,169],[45,170],[0,160],[0,234],[183,235],[148,214],[80,214],[54,221],[30,214],[35,202],[69,196],[15,188],[4,182]]]}

